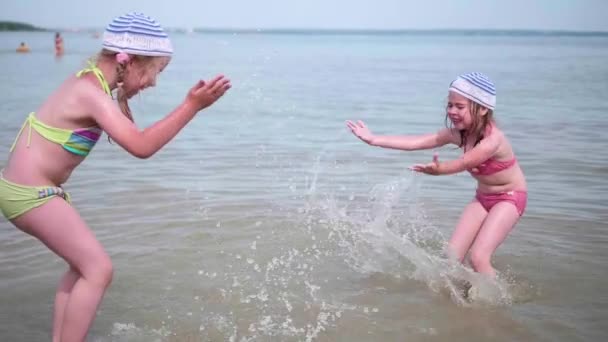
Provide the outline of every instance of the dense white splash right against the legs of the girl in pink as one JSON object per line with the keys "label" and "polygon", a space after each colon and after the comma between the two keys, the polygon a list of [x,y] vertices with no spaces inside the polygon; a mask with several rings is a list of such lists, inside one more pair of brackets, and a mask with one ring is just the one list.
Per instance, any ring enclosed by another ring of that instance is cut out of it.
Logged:
{"label": "dense white splash right against the legs of the girl in pink", "polygon": [[[313,167],[313,184],[320,160],[319,156]],[[363,205],[354,209],[349,208],[352,196],[346,201],[334,195],[319,200],[309,191],[305,212],[310,215],[309,222],[317,218],[317,229],[329,232],[330,244],[339,247],[338,253],[356,272],[422,281],[435,292],[447,291],[458,305],[511,304],[508,288],[512,284],[506,279],[489,280],[445,257],[446,239],[419,205],[416,180],[415,174],[407,173],[377,184]],[[394,212],[404,204],[408,210]]]}

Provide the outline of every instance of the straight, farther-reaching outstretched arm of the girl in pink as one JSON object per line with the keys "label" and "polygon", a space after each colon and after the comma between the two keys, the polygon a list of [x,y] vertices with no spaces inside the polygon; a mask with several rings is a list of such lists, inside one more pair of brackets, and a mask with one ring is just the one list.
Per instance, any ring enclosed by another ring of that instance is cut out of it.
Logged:
{"label": "straight, farther-reaching outstretched arm of the girl in pink", "polygon": [[374,135],[367,128],[363,121],[347,121],[346,125],[355,136],[363,140],[365,143],[404,151],[426,150],[430,148],[440,147],[449,143],[455,143],[455,135],[449,128],[444,128],[436,133],[423,135]]}

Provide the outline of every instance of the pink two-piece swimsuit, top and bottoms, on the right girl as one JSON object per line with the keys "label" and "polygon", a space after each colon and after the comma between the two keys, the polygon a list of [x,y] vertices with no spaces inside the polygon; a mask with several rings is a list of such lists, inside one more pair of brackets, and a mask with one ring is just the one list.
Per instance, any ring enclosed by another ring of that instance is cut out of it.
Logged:
{"label": "pink two-piece swimsuit, top and bottoms, on the right girl", "polygon": [[[489,176],[502,170],[506,170],[511,166],[515,165],[516,163],[517,160],[515,158],[507,161],[498,161],[494,158],[490,158],[485,162],[479,164],[477,167],[469,169],[468,171],[474,175]],[[475,199],[477,199],[477,201],[479,201],[479,203],[488,212],[490,211],[490,209],[492,209],[494,205],[496,205],[496,203],[513,203],[515,208],[517,208],[519,216],[521,216],[524,214],[524,210],[526,209],[526,203],[528,202],[528,193],[526,191],[517,190],[498,193],[483,193],[477,190],[477,193],[475,194]]]}

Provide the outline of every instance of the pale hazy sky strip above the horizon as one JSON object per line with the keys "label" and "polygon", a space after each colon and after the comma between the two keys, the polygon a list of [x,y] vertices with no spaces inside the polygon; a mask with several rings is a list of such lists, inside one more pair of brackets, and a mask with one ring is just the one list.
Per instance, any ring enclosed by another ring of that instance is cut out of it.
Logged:
{"label": "pale hazy sky strip above the horizon", "polygon": [[0,20],[104,28],[143,12],[173,28],[607,31],[608,0],[2,0]]}

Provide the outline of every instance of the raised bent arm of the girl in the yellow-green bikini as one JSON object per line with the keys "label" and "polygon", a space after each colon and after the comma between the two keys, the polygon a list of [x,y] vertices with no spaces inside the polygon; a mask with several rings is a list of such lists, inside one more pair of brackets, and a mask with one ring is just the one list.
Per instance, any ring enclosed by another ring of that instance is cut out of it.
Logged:
{"label": "raised bent arm of the girl in the yellow-green bikini", "polygon": [[108,98],[97,101],[93,116],[110,138],[127,152],[138,158],[148,158],[173,139],[197,112],[212,105],[229,88],[230,81],[223,76],[208,83],[199,81],[169,115],[141,131]]}

